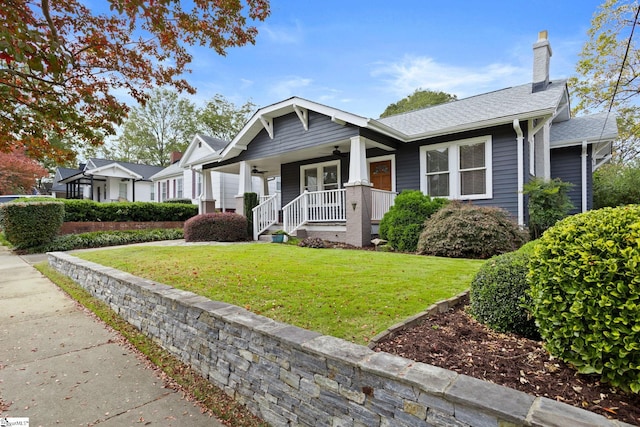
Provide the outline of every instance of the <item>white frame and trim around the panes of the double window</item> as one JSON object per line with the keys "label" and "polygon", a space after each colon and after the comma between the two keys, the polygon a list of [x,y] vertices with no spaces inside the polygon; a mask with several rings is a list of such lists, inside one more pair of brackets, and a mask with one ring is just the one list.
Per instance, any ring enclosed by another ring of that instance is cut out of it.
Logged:
{"label": "white frame and trim around the panes of the double window", "polygon": [[[462,195],[460,189],[460,147],[464,145],[474,145],[484,143],[485,161],[485,193]],[[449,149],[449,196],[440,196],[455,200],[480,200],[493,198],[493,161],[492,161],[492,138],[491,135],[476,138],[461,139],[441,144],[423,145],[420,147],[420,190],[424,194],[428,192],[427,180],[427,151],[443,148]]]}

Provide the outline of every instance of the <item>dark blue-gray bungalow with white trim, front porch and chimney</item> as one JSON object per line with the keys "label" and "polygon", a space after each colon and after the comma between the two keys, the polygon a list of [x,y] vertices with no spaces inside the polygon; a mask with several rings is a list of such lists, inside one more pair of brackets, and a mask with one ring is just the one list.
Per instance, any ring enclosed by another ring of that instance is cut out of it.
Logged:
{"label": "dark blue-gray bungalow with white trim, front porch and chimney", "polygon": [[[577,211],[590,209],[615,117],[572,118],[566,81],[549,79],[546,32],[533,51],[533,83],[383,119],[296,97],[264,107],[202,168],[238,174],[238,195],[252,176],[279,176],[285,231],[357,246],[402,190],[499,206],[526,225],[524,184],[559,177],[574,184]],[[270,200],[256,210],[254,238],[276,210]]]}

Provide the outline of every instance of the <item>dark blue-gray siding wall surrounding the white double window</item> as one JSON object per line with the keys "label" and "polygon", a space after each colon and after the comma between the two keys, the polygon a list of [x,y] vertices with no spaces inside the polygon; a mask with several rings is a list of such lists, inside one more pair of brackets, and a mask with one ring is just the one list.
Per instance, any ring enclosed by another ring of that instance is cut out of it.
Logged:
{"label": "dark blue-gray siding wall surrounding the white double window", "polygon": [[453,142],[482,135],[492,135],[493,199],[474,200],[474,205],[498,206],[513,217],[518,215],[518,169],[516,134],[510,125],[482,131],[465,132],[400,145],[396,153],[398,191],[420,189],[420,147]]}

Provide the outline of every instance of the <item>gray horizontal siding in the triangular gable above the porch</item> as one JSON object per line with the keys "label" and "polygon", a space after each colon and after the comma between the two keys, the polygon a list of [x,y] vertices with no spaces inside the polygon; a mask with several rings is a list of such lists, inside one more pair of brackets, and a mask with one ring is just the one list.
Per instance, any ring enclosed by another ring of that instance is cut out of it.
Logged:
{"label": "gray horizontal siding in the triangular gable above the porch", "polygon": [[274,118],[273,131],[274,137],[271,139],[267,131],[262,129],[246,151],[222,164],[273,157],[289,151],[348,140],[358,135],[357,127],[333,123],[330,117],[314,111],[309,111],[308,131],[304,130],[295,113]]}

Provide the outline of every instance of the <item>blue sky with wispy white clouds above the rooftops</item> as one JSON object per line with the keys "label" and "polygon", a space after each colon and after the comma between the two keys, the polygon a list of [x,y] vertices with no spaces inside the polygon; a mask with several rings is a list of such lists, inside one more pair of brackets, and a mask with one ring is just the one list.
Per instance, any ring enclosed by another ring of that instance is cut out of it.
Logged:
{"label": "blue sky with wispy white clouds above the rooftops", "polygon": [[463,98],[531,81],[549,31],[551,77],[574,74],[601,0],[272,0],[254,46],[221,57],[193,48],[187,80],[259,107],[291,96],[378,117],[417,88]]}

